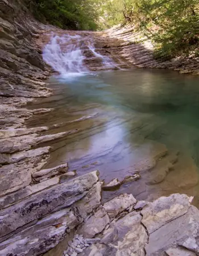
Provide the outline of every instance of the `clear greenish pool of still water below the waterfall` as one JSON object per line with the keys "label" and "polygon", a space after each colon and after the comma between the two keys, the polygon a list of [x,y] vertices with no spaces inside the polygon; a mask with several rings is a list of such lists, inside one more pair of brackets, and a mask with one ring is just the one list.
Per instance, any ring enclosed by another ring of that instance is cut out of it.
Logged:
{"label": "clear greenish pool of still water below the waterfall", "polygon": [[[32,119],[30,126],[68,122],[49,133],[78,130],[53,142],[49,167],[69,162],[69,169],[77,170],[78,175],[98,169],[105,181],[114,177],[123,180],[140,171],[139,181],[125,184],[119,191],[104,193],[105,199],[121,192],[148,200],[171,192],[196,195],[198,77],[132,69],[62,79],[52,77],[49,82],[55,96],[37,105],[55,111],[36,121]],[[82,117],[90,118],[70,122]],[[167,164],[165,156],[172,155],[173,150],[178,159],[172,172],[165,175],[163,182],[148,185],[149,177],[159,172],[159,168],[152,171],[151,168],[162,159]]]}

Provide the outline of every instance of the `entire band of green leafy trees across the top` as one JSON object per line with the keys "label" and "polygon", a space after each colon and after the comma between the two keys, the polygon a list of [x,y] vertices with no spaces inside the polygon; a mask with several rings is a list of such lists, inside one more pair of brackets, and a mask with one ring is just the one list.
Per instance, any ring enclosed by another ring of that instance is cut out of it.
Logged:
{"label": "entire band of green leafy trees across the top", "polygon": [[99,30],[130,23],[155,43],[159,57],[198,54],[198,0],[24,0],[43,22]]}

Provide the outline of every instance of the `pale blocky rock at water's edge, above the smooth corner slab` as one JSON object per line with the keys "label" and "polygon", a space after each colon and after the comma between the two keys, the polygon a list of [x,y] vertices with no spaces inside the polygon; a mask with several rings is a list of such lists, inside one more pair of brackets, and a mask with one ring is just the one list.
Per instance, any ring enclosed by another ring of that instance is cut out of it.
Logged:
{"label": "pale blocky rock at water's edge, above the smooth corner slab", "polygon": [[167,222],[188,212],[189,207],[189,197],[186,195],[173,194],[169,197],[160,197],[142,209],[142,223],[151,234]]}

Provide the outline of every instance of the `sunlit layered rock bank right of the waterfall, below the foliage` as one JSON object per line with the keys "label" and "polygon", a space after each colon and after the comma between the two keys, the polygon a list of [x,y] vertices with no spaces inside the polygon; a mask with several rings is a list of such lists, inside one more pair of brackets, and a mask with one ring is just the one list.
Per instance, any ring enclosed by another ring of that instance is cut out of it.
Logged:
{"label": "sunlit layered rock bank right of the waterfall, below the foliage", "polygon": [[[126,59],[130,67],[172,69],[181,74],[199,75],[199,57],[180,56],[172,60],[155,60],[152,43],[140,32],[134,32],[131,26],[114,27],[107,30],[108,38],[118,39],[118,55]],[[113,47],[113,46],[109,46]]]}

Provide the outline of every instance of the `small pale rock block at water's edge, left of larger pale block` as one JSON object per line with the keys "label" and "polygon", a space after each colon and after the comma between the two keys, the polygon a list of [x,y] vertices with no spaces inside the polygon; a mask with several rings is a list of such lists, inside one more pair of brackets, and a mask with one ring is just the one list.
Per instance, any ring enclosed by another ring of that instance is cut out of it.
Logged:
{"label": "small pale rock block at water's edge, left of larger pale block", "polygon": [[136,199],[131,194],[122,194],[103,204],[103,208],[109,214],[110,218],[114,218],[123,210],[127,209],[131,205],[134,205],[135,203]]}

